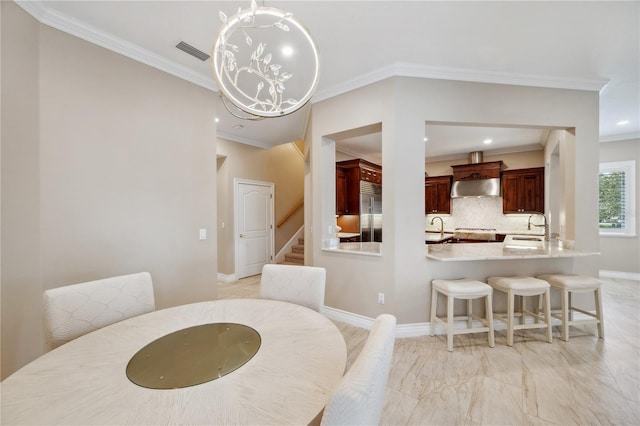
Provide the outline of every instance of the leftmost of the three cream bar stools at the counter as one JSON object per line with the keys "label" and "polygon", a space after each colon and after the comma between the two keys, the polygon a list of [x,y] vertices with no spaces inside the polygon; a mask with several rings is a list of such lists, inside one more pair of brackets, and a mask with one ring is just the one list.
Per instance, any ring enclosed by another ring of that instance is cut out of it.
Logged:
{"label": "leftmost of the three cream bar stools at the counter", "polygon": [[[446,322],[436,315],[438,304],[438,293],[447,297],[447,320]],[[495,346],[493,334],[493,289],[481,281],[460,279],[460,280],[433,280],[431,281],[431,325],[429,334],[434,335],[436,321],[443,324],[447,330],[447,350],[453,351],[453,336],[455,334],[468,333],[488,333],[489,346]],[[485,298],[485,318],[475,315],[472,310],[473,299]],[[467,300],[467,315],[454,317],[453,302],[455,299]],[[484,327],[473,327],[473,319],[480,321]],[[454,320],[466,320],[467,326],[464,329],[454,330]]]}

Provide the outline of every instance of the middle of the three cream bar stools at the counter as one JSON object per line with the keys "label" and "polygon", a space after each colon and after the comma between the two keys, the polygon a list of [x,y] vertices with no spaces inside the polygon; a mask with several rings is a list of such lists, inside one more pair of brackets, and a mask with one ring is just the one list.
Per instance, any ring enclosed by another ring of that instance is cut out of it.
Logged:
{"label": "middle of the three cream bar stools at the counter", "polygon": [[[546,328],[547,342],[553,341],[551,330],[551,296],[548,282],[533,277],[489,277],[487,282],[495,290],[507,293],[506,318],[496,317],[507,324],[507,345],[513,346],[513,331],[531,328]],[[515,312],[515,296],[518,297],[519,309]],[[524,297],[538,296],[536,299],[536,312],[527,311],[524,308]],[[544,298],[543,316],[540,316],[540,297]],[[519,316],[519,324],[514,324],[514,316]],[[534,318],[533,324],[527,324],[526,316]]]}

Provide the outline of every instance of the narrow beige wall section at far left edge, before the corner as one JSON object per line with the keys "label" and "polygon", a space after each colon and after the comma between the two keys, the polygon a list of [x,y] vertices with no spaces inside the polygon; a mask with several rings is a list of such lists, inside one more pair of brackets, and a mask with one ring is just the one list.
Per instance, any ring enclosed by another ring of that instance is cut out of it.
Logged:
{"label": "narrow beige wall section at far left edge, before the corner", "polygon": [[38,24],[2,10],[2,378],[43,350]]}

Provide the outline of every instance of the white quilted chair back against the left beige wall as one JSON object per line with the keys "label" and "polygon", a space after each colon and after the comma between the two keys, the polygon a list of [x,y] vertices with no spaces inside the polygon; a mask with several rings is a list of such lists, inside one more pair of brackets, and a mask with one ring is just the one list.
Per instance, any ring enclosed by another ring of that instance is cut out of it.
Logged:
{"label": "white quilted chair back against the left beige wall", "polygon": [[109,324],[155,310],[153,283],[148,272],[46,290],[43,303],[50,349]]}

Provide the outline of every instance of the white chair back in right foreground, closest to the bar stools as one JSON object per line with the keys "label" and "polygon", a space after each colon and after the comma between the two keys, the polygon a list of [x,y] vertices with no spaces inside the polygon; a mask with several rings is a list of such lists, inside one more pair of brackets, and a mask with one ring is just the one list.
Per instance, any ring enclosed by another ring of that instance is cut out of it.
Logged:
{"label": "white chair back in right foreground, closest to the bar stools", "polygon": [[377,425],[380,423],[391,357],[396,317],[376,318],[369,337],[347,374],[333,392],[321,425]]}

